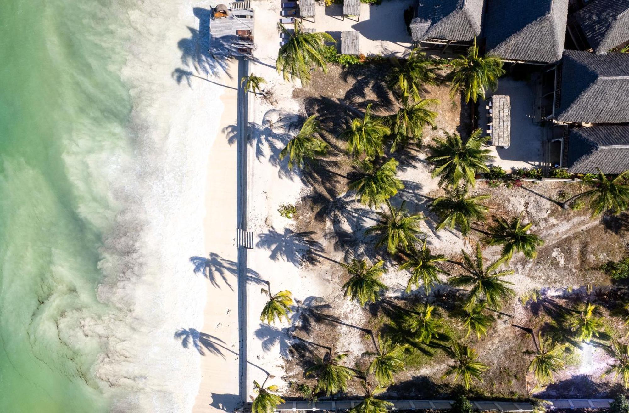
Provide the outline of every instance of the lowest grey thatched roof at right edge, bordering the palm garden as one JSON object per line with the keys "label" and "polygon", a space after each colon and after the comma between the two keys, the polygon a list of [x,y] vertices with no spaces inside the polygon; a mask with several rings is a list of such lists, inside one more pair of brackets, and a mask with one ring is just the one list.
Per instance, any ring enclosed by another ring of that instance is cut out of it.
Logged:
{"label": "lowest grey thatched roof at right edge, bordering the palm garden", "polygon": [[629,126],[598,125],[573,129],[568,137],[568,170],[617,174],[629,170]]}

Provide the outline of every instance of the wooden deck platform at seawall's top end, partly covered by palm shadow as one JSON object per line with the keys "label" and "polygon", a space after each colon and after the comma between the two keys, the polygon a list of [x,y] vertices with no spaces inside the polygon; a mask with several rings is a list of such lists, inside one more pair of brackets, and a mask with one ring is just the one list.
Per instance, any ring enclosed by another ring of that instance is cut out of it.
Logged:
{"label": "wooden deck platform at seawall's top end, partly covered by palm shadow", "polygon": [[209,22],[209,54],[253,57],[253,9],[249,1],[219,4]]}

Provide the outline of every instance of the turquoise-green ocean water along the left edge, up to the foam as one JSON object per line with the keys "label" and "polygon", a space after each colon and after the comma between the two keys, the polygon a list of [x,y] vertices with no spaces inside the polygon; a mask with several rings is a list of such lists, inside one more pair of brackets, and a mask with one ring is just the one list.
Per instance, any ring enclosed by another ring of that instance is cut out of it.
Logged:
{"label": "turquoise-green ocean water along the left edge, up to the foam", "polygon": [[96,298],[120,208],[108,179],[131,152],[112,9],[0,1],[0,412],[109,409],[92,371],[103,344],[82,331],[109,311]]}

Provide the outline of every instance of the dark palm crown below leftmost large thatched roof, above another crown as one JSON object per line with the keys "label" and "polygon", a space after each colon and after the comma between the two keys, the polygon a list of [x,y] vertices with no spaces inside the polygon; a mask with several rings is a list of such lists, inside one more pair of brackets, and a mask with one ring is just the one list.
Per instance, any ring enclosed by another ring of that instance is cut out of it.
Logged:
{"label": "dark palm crown below leftmost large thatched roof, above another crown", "polygon": [[391,61],[393,67],[387,75],[387,86],[399,97],[419,100],[423,85],[437,84],[438,67],[418,49],[411,50],[406,60],[393,58]]}

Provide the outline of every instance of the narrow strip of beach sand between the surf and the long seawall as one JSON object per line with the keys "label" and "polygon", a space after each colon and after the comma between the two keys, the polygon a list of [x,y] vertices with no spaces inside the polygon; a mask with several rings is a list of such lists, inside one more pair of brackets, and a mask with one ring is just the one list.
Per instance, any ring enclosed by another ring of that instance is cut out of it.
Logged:
{"label": "narrow strip of beach sand between the surf and the long seawall", "polygon": [[[237,62],[228,73],[237,73]],[[225,85],[221,101],[225,107],[218,136],[208,159],[206,217],[204,232],[208,259],[201,264],[207,302],[199,342],[201,385],[193,412],[231,411],[238,396],[238,295],[236,234],[236,146],[228,142],[228,131],[236,124],[238,81],[225,74],[216,79]]]}

